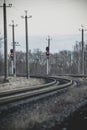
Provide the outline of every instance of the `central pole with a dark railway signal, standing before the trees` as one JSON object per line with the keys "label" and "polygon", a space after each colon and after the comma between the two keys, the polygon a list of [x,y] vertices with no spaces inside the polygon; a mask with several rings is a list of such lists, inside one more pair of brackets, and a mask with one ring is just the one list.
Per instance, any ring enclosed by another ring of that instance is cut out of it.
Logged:
{"label": "central pole with a dark railway signal, standing before the trees", "polygon": [[50,36],[46,39],[48,41],[48,46],[46,47],[46,56],[47,56],[47,75],[49,74],[49,55],[50,55]]}

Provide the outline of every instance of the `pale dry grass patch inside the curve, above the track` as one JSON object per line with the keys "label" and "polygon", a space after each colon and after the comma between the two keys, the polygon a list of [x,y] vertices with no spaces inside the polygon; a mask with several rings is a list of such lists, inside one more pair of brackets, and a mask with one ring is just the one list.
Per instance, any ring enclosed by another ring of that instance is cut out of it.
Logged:
{"label": "pale dry grass patch inside the curve, above the track", "polygon": [[[3,77],[2,78],[0,77],[0,80],[2,81]],[[26,77],[10,77],[8,83],[0,84],[0,92],[15,88],[21,88],[25,86],[26,87],[37,86],[43,84],[44,82],[45,82],[44,80],[36,78],[26,79]]]}

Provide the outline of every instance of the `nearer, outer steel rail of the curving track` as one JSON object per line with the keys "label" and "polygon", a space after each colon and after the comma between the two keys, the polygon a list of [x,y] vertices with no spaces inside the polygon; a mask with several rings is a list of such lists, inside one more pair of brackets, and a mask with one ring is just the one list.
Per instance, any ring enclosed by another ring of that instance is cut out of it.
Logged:
{"label": "nearer, outer steel rail of the curving track", "polygon": [[[57,80],[59,80],[59,79],[63,80],[62,78],[58,78],[58,79],[56,78],[56,80],[54,80],[54,81],[57,82]],[[66,80],[67,80],[67,83],[65,83],[65,84],[56,85],[56,82],[55,82],[55,85],[53,84],[53,86],[52,85],[50,86],[50,83],[48,83],[46,85],[43,85],[44,87],[39,86],[39,89],[33,89],[33,91],[32,90],[31,91],[21,91],[20,93],[15,93],[14,95],[11,94],[8,96],[0,97],[0,104],[14,102],[14,101],[22,100],[25,98],[35,97],[35,96],[39,96],[39,95],[42,95],[45,93],[50,93],[50,92],[54,92],[57,90],[65,89],[65,88],[71,86],[73,83],[72,80],[69,80],[69,79],[66,79]]]}

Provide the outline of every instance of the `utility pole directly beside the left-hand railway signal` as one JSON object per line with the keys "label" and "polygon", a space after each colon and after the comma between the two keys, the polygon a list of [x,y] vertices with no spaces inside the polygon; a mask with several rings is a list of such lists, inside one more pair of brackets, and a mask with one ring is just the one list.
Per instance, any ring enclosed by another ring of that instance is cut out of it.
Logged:
{"label": "utility pole directly beside the left-hand railway signal", "polygon": [[12,42],[13,42],[13,76],[16,76],[16,52],[15,52],[15,32],[14,28],[17,27],[18,25],[14,25],[14,20],[12,20],[12,25],[10,24],[9,26],[12,27]]}

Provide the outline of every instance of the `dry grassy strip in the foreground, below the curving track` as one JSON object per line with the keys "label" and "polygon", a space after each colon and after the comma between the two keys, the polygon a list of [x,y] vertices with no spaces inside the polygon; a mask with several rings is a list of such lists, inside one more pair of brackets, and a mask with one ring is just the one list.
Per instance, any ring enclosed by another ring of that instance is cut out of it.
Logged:
{"label": "dry grassy strip in the foreground, below the curving track", "polygon": [[[80,81],[83,82],[83,79]],[[77,105],[85,98],[87,98],[86,85],[69,88],[66,93],[60,96],[56,95],[51,99],[21,108],[12,115],[11,121],[8,121],[10,122],[8,123],[9,129],[6,130],[26,130],[35,124],[48,122],[54,117],[60,121],[70,112],[70,109],[73,109],[71,106]]]}

